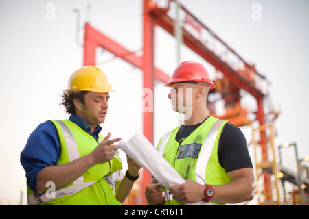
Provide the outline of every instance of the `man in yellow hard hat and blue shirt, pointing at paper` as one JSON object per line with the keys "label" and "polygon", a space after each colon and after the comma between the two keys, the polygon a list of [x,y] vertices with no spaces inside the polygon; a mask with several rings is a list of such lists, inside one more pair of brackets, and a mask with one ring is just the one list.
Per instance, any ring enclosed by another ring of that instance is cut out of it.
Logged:
{"label": "man in yellow hard hat and blue shirt, pointing at paper", "polygon": [[108,112],[111,89],[96,66],[76,70],[63,92],[69,120],[41,123],[21,152],[29,205],[121,205],[141,168],[128,157],[122,163],[114,144],[100,134]]}

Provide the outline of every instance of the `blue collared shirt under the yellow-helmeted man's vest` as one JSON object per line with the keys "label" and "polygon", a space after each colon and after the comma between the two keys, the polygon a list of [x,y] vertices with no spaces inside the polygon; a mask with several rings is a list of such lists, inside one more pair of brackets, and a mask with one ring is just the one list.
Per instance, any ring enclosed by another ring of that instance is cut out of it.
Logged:
{"label": "blue collared shirt under the yellow-helmeted man's vest", "polygon": [[[102,130],[100,125],[97,125],[95,131],[91,133],[91,129],[87,122],[77,116],[71,114],[69,117],[73,123],[76,123],[84,131],[91,134],[95,140]],[[27,185],[30,190],[36,192],[37,175],[43,168],[54,166],[58,163],[61,155],[61,145],[58,137],[58,131],[51,121],[41,123],[30,134],[25,149],[21,151],[21,165],[25,169]]]}

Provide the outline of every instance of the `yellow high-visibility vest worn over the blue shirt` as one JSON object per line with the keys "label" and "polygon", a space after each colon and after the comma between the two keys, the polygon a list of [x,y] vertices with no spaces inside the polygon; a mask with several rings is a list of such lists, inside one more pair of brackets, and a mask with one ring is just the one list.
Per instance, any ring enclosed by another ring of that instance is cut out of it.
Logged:
{"label": "yellow high-visibility vest worn over the blue shirt", "polygon": [[[87,155],[104,139],[98,141],[70,120],[52,120],[61,144],[57,165],[67,164]],[[115,158],[104,164],[95,164],[75,181],[56,191],[47,190],[38,196],[28,188],[29,205],[122,205],[115,198],[122,181],[122,163],[116,152]],[[52,183],[52,182],[51,182]],[[49,184],[52,185],[52,184]]]}

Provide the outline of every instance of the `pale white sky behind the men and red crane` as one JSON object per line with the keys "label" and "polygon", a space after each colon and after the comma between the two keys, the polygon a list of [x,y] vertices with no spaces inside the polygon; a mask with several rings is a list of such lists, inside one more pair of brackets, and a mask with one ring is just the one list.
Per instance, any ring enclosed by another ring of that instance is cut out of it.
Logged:
{"label": "pale white sky behind the men and red crane", "polygon": [[[91,3],[87,15],[87,4]],[[162,2],[162,1],[161,1]],[[48,21],[46,5],[55,5],[55,19]],[[299,157],[309,155],[309,2],[306,0],[182,0],[195,16],[212,29],[244,60],[254,63],[271,81],[271,98],[282,113],[275,128],[275,145],[284,140],[297,142]],[[253,3],[261,5],[262,20],[253,21]],[[75,42],[76,13],[81,24],[91,25],[131,51],[142,49],[141,0],[0,0],[0,200],[19,201],[25,187],[25,172],[19,162],[30,133],[49,119],[68,115],[58,106],[67,79],[82,66],[82,46]],[[83,30],[80,30],[82,42]],[[162,29],[156,31],[155,64],[169,75],[176,68],[176,42]],[[98,51],[100,52],[100,51]],[[141,131],[141,70],[111,53],[98,55],[98,66],[106,73],[117,93],[111,94],[110,109],[103,134],[130,138]],[[185,47],[181,59],[196,60],[214,70]],[[100,64],[101,63],[101,64]],[[178,125],[178,116],[168,101],[168,88],[156,83],[155,144]],[[250,100],[249,100],[250,101]],[[251,102],[244,103],[254,109]],[[251,128],[243,127],[247,141]]]}

